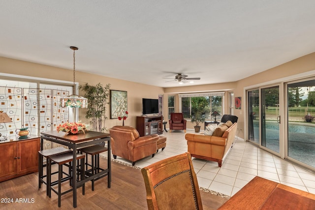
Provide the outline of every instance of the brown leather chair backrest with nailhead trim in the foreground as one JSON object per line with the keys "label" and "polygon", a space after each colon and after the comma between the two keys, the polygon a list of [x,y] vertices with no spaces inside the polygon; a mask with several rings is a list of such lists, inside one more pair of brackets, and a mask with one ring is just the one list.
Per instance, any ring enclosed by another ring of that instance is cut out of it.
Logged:
{"label": "brown leather chair backrest with nailhead trim in the foreground", "polygon": [[202,210],[197,177],[189,152],[153,163],[141,172],[149,210]]}

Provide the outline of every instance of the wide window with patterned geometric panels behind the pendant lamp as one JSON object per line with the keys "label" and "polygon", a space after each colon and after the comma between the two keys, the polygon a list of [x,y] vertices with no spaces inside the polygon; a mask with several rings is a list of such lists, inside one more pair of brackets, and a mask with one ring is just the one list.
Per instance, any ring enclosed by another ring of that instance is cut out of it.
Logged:
{"label": "wide window with patterned geometric panels behind the pendant lamp", "polygon": [[72,109],[59,107],[60,97],[69,94],[71,86],[0,79],[0,111],[12,119],[0,125],[0,133],[15,139],[16,129],[23,127],[33,135],[55,130],[72,118]]}

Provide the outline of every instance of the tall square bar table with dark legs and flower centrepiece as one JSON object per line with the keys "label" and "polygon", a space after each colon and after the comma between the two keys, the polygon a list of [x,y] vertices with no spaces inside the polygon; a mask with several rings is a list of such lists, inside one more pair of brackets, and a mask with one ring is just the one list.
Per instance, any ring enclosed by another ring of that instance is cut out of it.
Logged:
{"label": "tall square bar table with dark legs and flower centrepiece", "polygon": [[[96,173],[93,176],[90,176],[84,180],[77,181],[77,161],[72,162],[72,187],[73,187],[73,207],[77,207],[77,186],[82,185],[83,183],[93,180],[95,178],[101,178],[107,176],[107,187],[110,188],[111,183],[111,148],[110,148],[110,134],[101,133],[95,131],[88,131],[85,134],[67,134],[65,132],[58,131],[46,131],[41,132],[40,137],[40,148],[43,150],[44,140],[55,142],[73,150],[73,160],[76,160],[77,149],[82,147],[87,147],[90,145],[96,145],[101,142],[107,142],[107,169],[102,169],[101,172]],[[42,160],[41,160],[42,161]]]}

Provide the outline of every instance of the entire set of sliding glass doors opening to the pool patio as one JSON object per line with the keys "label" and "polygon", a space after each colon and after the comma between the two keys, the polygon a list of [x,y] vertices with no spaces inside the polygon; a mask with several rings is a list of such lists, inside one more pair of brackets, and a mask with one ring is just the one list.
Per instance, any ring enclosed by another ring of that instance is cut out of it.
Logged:
{"label": "entire set of sliding glass doors opening to the pool patio", "polygon": [[315,170],[315,78],[247,90],[247,139]]}

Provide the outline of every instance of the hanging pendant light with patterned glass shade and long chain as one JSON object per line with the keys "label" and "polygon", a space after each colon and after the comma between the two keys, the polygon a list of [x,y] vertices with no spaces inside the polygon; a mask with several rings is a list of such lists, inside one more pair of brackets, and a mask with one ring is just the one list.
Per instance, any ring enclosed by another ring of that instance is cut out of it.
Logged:
{"label": "hanging pendant light with patterned glass shade and long chain", "polygon": [[75,95],[75,51],[79,48],[70,47],[73,50],[73,95],[68,95],[60,98],[61,107],[70,107],[70,108],[87,108],[88,99]]}

